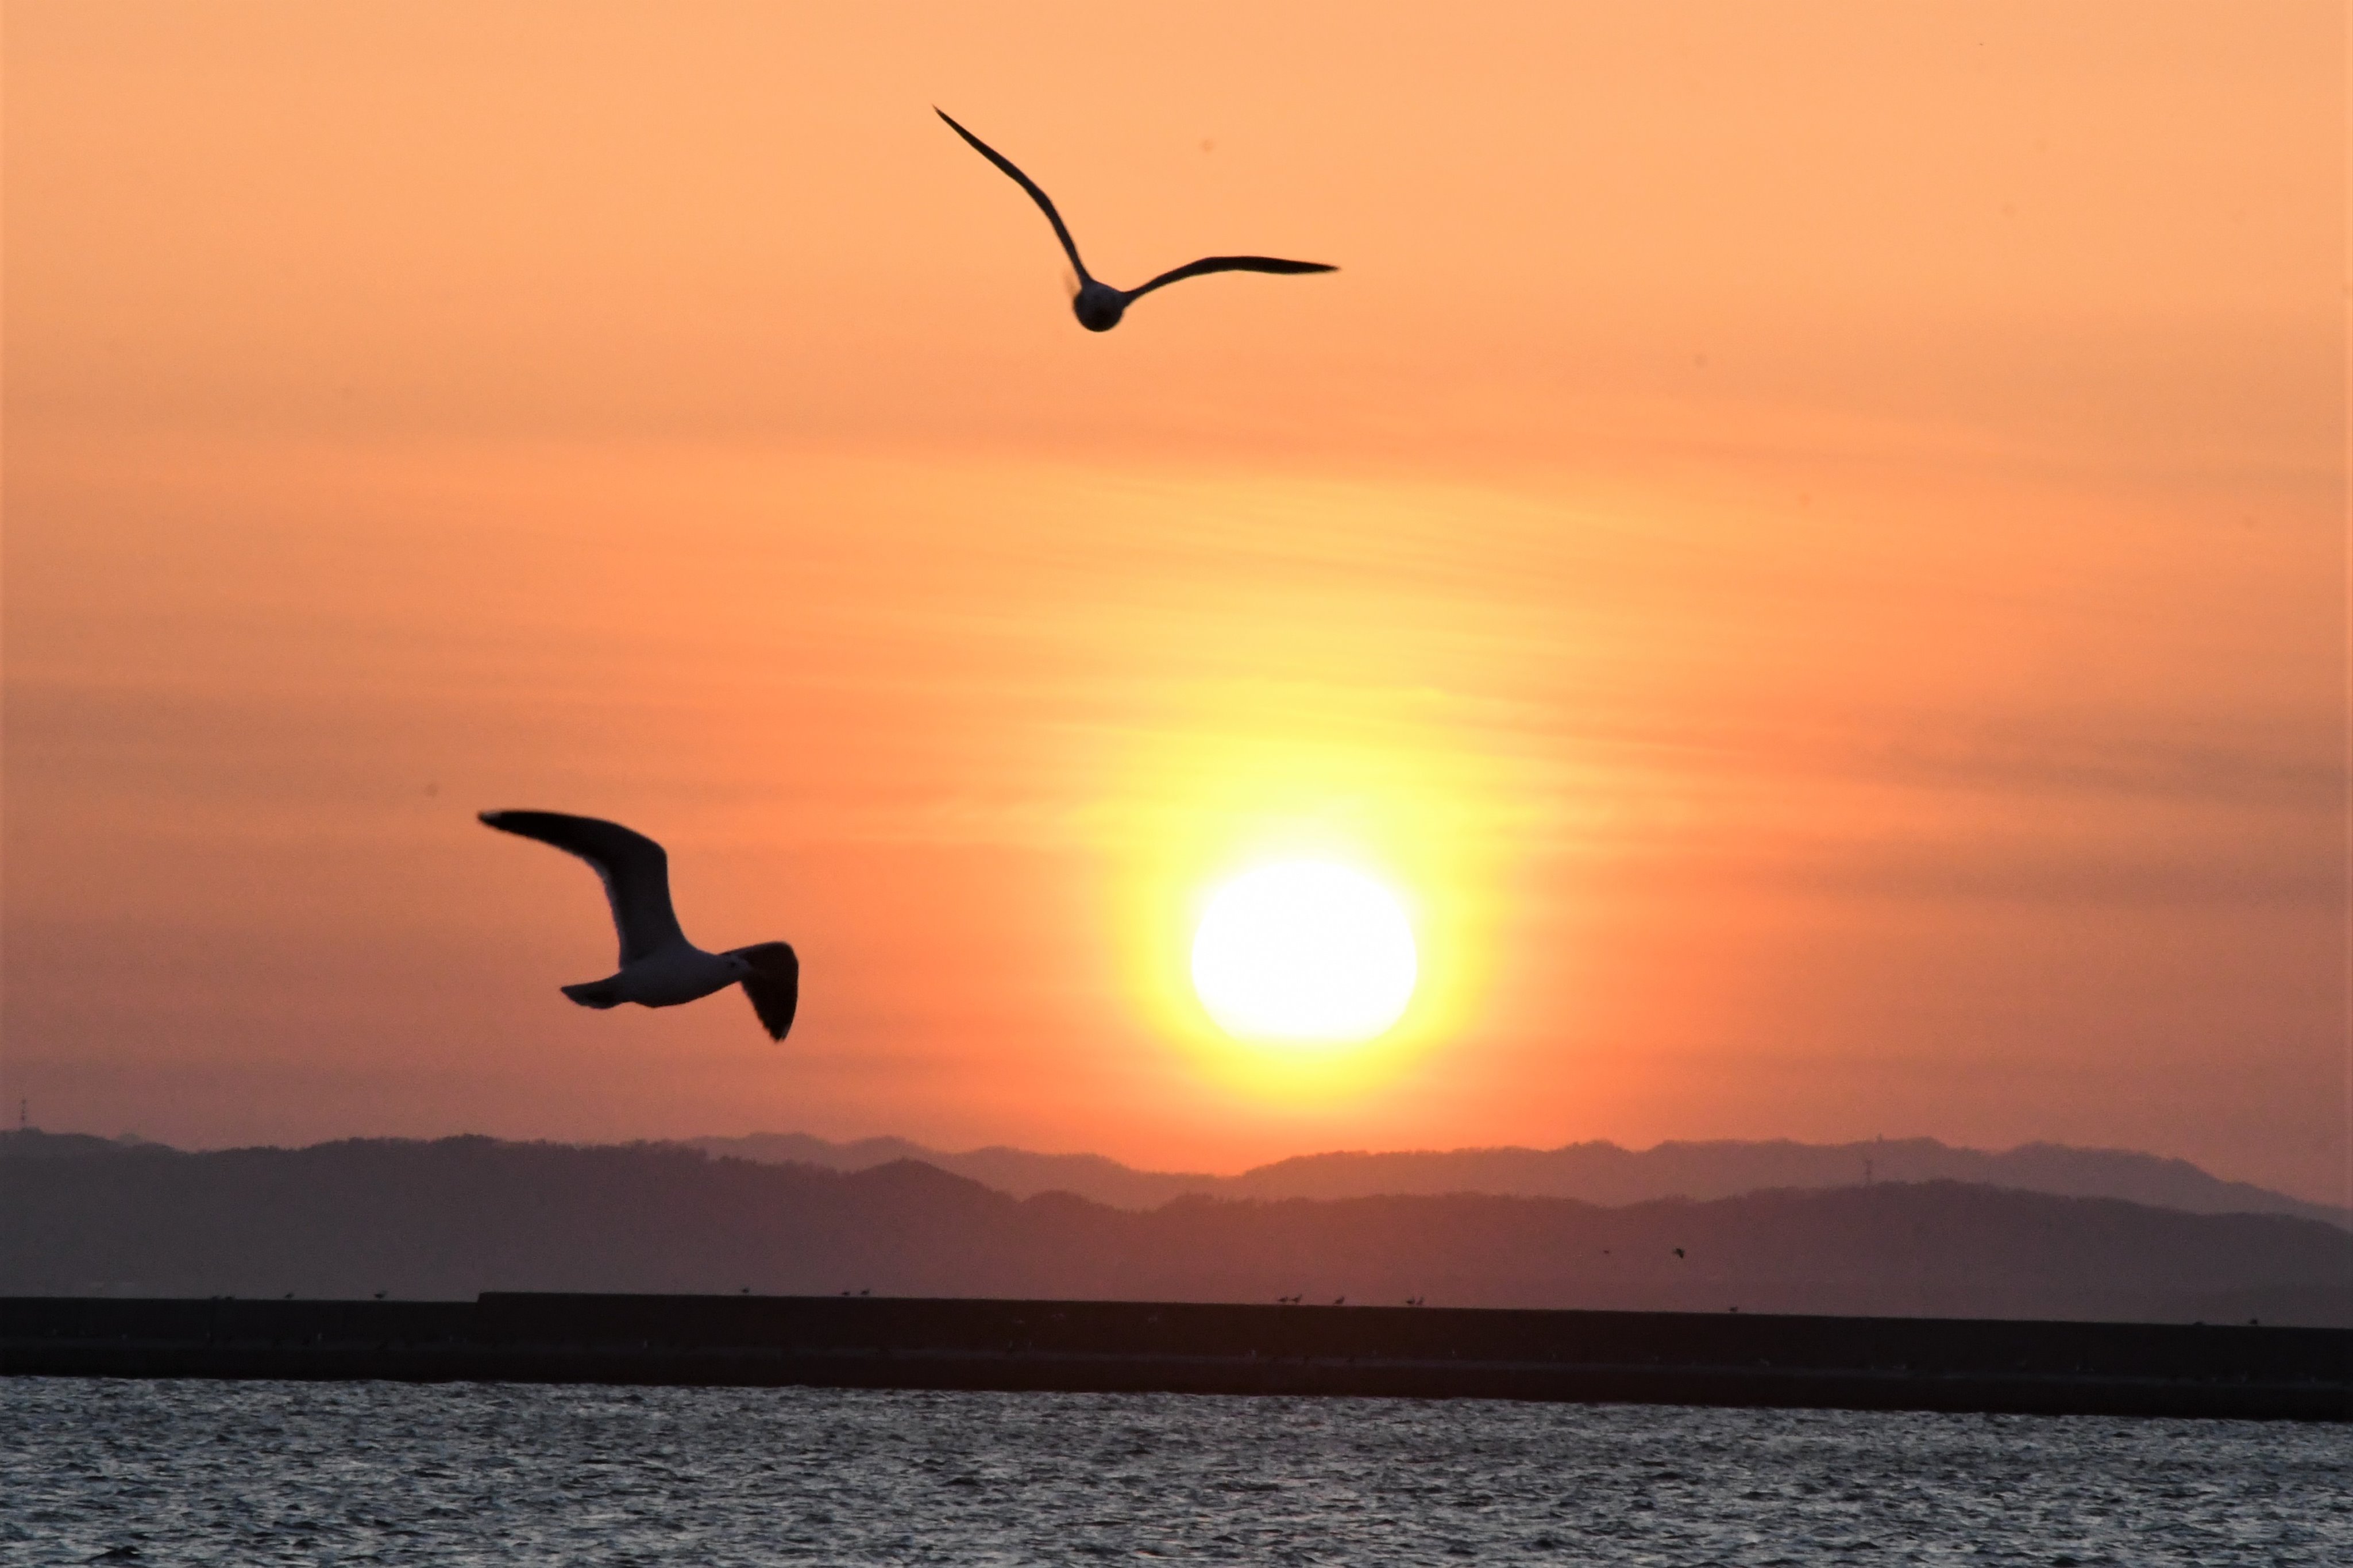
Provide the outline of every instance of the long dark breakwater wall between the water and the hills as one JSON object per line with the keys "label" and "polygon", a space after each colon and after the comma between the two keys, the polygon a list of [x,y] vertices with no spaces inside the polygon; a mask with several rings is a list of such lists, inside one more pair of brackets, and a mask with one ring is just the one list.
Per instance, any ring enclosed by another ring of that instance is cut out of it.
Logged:
{"label": "long dark breakwater wall between the water and the hills", "polygon": [[2353,1420],[2353,1331],[1445,1307],[0,1300],[0,1373]]}

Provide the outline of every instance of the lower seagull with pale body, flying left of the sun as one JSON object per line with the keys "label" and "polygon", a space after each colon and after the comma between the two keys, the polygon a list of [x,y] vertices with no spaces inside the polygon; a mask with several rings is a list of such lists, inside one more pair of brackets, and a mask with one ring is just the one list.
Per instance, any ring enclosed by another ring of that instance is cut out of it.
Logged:
{"label": "lower seagull with pale body, flying left of the sun", "polygon": [[800,1004],[800,957],[791,943],[704,952],[671,910],[671,856],[642,832],[562,811],[485,811],[485,827],[553,844],[579,856],[605,882],[605,903],[621,933],[621,971],[567,985],[581,1006],[678,1006],[741,985],[769,1039],[784,1039]]}

